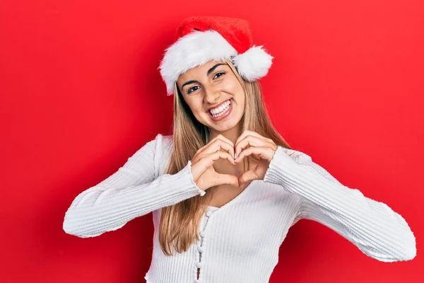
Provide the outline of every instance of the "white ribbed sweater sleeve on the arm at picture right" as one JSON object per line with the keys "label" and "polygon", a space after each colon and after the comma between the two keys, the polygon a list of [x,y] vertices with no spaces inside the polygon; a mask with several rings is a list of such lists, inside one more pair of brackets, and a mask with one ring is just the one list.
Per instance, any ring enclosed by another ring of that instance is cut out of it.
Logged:
{"label": "white ribbed sweater sleeve on the arm at picture right", "polygon": [[281,185],[300,197],[293,224],[299,219],[317,221],[382,262],[416,256],[416,238],[400,214],[341,184],[301,151],[278,146],[264,182]]}

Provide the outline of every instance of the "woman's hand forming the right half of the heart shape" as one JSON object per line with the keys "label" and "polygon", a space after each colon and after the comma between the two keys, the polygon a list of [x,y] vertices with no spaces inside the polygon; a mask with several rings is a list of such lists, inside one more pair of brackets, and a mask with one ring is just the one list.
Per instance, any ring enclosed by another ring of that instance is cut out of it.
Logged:
{"label": "woman's hand forming the right half of the heart shape", "polygon": [[[245,149],[250,146],[248,149]],[[243,150],[244,149],[244,150]],[[272,139],[262,137],[257,132],[248,131],[242,132],[240,137],[235,141],[235,163],[242,161],[245,156],[254,154],[259,156],[259,163],[257,166],[238,177],[239,186],[249,182],[249,180],[263,180],[266,171],[269,168],[269,163],[273,158],[278,146]]]}

